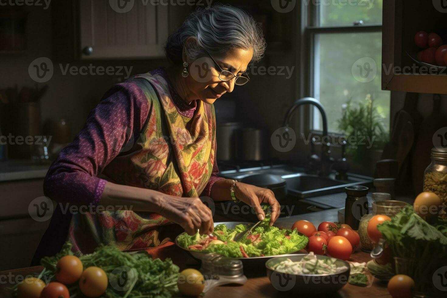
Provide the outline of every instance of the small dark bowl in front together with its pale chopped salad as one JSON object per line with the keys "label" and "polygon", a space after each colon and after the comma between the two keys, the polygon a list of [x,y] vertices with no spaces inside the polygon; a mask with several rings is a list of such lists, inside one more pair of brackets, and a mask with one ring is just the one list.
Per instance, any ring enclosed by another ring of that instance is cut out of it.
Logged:
{"label": "small dark bowl in front together with its pale chopped salad", "polygon": [[266,262],[267,277],[278,291],[335,293],[349,282],[350,264],[329,256],[293,254]]}

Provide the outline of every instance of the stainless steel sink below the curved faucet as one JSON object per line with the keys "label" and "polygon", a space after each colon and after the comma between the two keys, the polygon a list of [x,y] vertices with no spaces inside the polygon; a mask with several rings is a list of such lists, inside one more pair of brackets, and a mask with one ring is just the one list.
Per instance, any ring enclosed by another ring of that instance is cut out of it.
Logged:
{"label": "stainless steel sink below the curved faucet", "polygon": [[286,165],[248,168],[239,171],[231,170],[220,173],[225,178],[237,180],[257,174],[274,174],[283,177],[287,183],[287,194],[303,199],[331,193],[342,193],[346,186],[369,185],[373,181],[371,177],[353,173],[347,173],[347,180],[337,179],[335,173],[321,177],[306,173],[304,168]]}

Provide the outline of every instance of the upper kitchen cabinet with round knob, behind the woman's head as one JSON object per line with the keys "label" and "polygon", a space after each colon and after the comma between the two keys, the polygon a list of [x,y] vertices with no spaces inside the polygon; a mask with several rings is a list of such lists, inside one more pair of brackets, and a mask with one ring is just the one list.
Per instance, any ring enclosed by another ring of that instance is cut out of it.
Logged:
{"label": "upper kitchen cabinet with round knob, behind the woman's head", "polygon": [[127,11],[112,7],[112,2],[67,0],[54,4],[55,58],[163,58],[169,34],[191,10],[188,5],[166,5],[162,1],[157,5],[151,1],[130,1],[123,2],[131,7]]}

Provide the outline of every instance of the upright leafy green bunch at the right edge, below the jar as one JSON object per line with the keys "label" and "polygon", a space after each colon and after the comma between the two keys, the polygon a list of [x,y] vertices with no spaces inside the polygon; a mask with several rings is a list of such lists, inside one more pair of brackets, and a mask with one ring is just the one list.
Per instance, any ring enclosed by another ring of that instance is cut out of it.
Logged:
{"label": "upright leafy green bunch at the right edge, below the jar", "polygon": [[408,205],[377,229],[387,241],[392,256],[408,260],[417,290],[434,290],[434,272],[447,265],[447,221],[439,218],[430,225]]}

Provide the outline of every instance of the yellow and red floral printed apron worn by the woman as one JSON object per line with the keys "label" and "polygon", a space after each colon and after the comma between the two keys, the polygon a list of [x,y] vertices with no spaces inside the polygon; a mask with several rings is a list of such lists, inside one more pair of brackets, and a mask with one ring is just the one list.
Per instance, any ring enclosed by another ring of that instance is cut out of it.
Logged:
{"label": "yellow and red floral printed apron worn by the woman", "polygon": [[[187,118],[178,113],[160,74],[129,80],[146,96],[148,118],[131,150],[121,152],[102,175],[121,185],[198,197],[215,160],[214,106],[197,101],[193,118]],[[156,247],[171,240],[159,239],[160,228],[170,223],[160,214],[131,210],[73,214],[68,240],[77,254],[93,252],[101,243],[120,250]]]}

